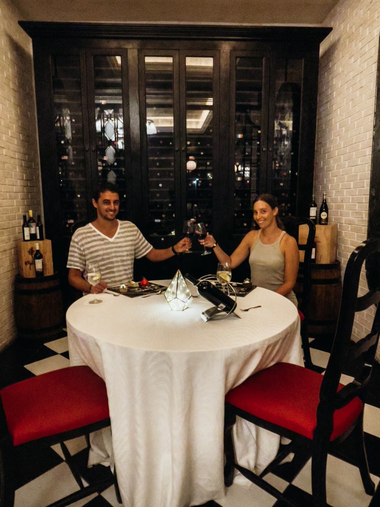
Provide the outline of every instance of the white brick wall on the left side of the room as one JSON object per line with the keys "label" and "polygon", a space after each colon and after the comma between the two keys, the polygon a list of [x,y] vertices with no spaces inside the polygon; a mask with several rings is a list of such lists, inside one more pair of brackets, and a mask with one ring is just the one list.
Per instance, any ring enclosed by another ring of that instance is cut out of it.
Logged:
{"label": "white brick wall on the left side of the room", "polygon": [[0,350],[16,336],[13,292],[22,215],[42,210],[31,40],[18,19],[12,4],[0,0]]}

